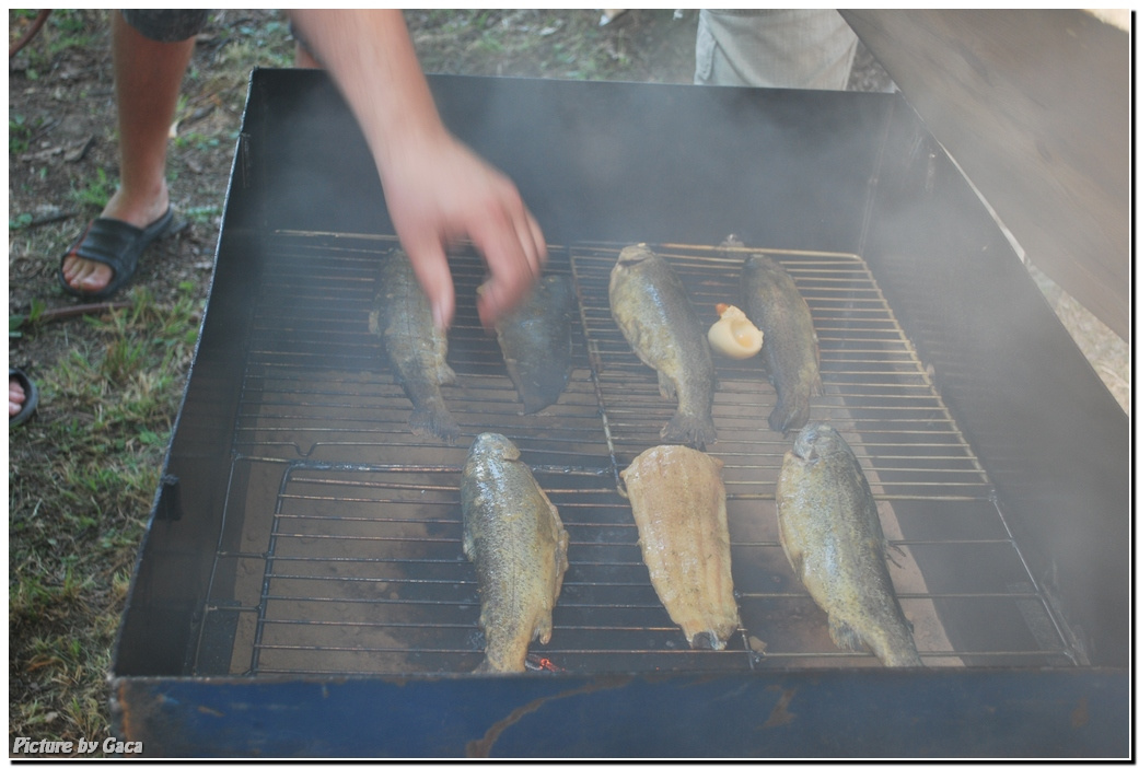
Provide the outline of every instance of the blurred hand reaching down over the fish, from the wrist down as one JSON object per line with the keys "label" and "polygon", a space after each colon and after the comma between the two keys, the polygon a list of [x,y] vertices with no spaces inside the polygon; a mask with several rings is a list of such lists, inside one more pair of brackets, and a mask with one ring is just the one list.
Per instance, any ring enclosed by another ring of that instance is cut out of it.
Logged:
{"label": "blurred hand reaching down over the fish, from the wrist down", "polygon": [[492,328],[541,275],[547,258],[541,227],[514,182],[445,130],[388,153],[379,172],[395,234],[435,325],[450,326],[454,313],[446,247],[469,238],[490,271],[478,292],[478,318]]}

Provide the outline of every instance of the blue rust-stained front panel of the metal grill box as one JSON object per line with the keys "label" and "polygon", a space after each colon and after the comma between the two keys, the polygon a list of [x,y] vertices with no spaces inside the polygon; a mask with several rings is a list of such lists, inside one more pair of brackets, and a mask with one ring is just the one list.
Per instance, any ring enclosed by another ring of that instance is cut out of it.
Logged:
{"label": "blue rust-stained front panel of the metal grill box", "polygon": [[118,730],[142,742],[144,758],[1064,759],[1130,751],[1128,686],[1118,677],[868,672],[136,678],[114,692]]}

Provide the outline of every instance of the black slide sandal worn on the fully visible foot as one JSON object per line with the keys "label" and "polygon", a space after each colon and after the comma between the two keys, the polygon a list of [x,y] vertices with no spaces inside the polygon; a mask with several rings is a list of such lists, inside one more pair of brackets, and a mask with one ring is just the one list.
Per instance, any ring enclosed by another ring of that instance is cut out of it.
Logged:
{"label": "black slide sandal worn on the fully visible foot", "polygon": [[[166,212],[146,229],[117,219],[96,219],[87,226],[75,244],[59,260],[59,284],[65,293],[80,299],[107,299],[126,285],[139,265],[139,256],[148,245],[166,234],[174,219],[174,209]],[[64,279],[64,260],[71,254],[80,259],[97,261],[112,269],[110,283],[101,291],[81,291],[67,285]]]}

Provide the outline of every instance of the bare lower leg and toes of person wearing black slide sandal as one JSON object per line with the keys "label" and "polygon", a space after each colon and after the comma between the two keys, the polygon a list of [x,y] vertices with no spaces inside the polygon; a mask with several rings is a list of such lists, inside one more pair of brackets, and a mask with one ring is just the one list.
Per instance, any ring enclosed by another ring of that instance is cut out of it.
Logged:
{"label": "bare lower leg and toes of person wearing black slide sandal", "polygon": [[[155,42],[112,14],[115,103],[118,107],[120,186],[103,215],[136,227],[153,223],[170,205],[166,145],[194,38]],[[106,264],[67,256],[64,277],[81,291],[97,292],[112,278]]]}

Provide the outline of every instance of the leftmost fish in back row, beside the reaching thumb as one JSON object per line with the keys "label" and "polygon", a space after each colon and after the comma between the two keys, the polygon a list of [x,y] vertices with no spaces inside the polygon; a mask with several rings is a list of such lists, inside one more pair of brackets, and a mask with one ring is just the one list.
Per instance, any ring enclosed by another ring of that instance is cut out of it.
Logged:
{"label": "leftmost fish in back row, beside the reaching thumb", "polygon": [[395,378],[411,401],[411,432],[433,434],[453,446],[459,425],[440,390],[440,385],[456,381],[446,365],[446,333],[435,327],[427,296],[402,250],[394,250],[384,260],[379,279],[369,325],[383,340]]}

